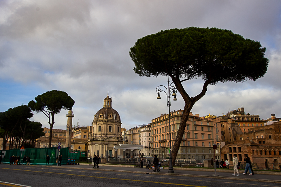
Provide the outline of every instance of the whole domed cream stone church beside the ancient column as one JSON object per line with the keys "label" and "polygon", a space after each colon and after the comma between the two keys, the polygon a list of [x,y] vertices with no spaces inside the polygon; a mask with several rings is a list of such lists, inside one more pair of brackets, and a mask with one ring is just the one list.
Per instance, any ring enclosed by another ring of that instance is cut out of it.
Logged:
{"label": "whole domed cream stone church beside the ancient column", "polygon": [[114,150],[113,147],[123,143],[121,119],[116,110],[112,108],[112,99],[107,95],[103,99],[103,108],[94,116],[88,135],[88,151],[90,158],[99,155],[101,158],[122,157],[123,150]]}

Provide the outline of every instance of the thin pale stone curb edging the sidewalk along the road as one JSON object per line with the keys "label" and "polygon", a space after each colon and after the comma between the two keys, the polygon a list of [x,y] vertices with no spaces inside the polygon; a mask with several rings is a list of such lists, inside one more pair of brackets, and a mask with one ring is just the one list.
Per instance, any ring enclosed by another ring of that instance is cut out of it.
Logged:
{"label": "thin pale stone curb edging the sidewalk along the road", "polygon": [[[54,167],[54,166],[47,166]],[[73,167],[60,167],[60,168],[72,168],[72,169],[86,169],[92,170],[92,168],[73,168]],[[124,171],[124,170],[114,170],[114,169],[96,169],[97,171],[115,171],[124,173],[142,173],[142,174],[152,174],[152,175],[166,175],[166,176],[187,176],[187,177],[200,177],[200,178],[220,178],[228,180],[245,180],[245,181],[256,181],[256,182],[271,182],[271,183],[281,183],[281,180],[267,180],[267,179],[246,179],[246,178],[233,178],[233,177],[222,177],[222,176],[208,176],[208,175],[190,175],[190,174],[177,174],[177,173],[155,173],[155,172],[145,172],[145,171]]]}

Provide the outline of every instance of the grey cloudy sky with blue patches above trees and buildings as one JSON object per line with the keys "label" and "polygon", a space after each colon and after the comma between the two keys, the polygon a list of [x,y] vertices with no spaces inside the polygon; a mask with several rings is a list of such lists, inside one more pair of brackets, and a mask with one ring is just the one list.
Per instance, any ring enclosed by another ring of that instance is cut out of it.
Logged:
{"label": "grey cloudy sky with blue patches above trees and buildings", "polygon": [[[134,73],[129,50],[138,38],[171,28],[217,27],[260,41],[270,60],[264,78],[208,86],[194,114],[222,115],[243,106],[261,119],[281,117],[281,1],[0,1],[0,111],[28,104],[50,90],[74,99],[73,124],[91,125],[112,97],[122,126],[148,124],[168,113],[158,85],[167,77]],[[184,83],[197,95],[202,80]],[[171,109],[183,109],[180,95]],[[67,111],[55,115],[54,128],[65,129]],[[42,113],[33,121],[49,127]]]}

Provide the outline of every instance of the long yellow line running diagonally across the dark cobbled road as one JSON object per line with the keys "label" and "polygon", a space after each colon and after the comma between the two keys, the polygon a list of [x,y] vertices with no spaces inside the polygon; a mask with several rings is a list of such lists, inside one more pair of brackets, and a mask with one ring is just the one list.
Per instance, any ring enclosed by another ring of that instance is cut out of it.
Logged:
{"label": "long yellow line running diagonally across the dark cobbled road", "polygon": [[[11,168],[1,168],[1,169],[11,169]],[[24,170],[24,169],[11,169],[11,170],[31,171],[31,172],[39,172],[39,173],[53,173],[53,174],[63,174],[63,175],[72,175],[72,176],[80,176],[80,177],[92,177],[92,178],[102,178],[102,179],[126,180],[126,181],[136,181],[136,182],[149,182],[149,183],[158,183],[158,184],[171,184],[171,185],[178,185],[178,186],[207,187],[207,186],[195,186],[195,185],[175,184],[175,183],[167,183],[167,182],[154,182],[154,181],[146,181],[146,180],[133,180],[133,179],[110,178],[110,177],[86,176],[86,175],[77,175],[77,174],[69,174],[69,173],[57,173],[57,172],[48,172],[48,171],[32,171],[32,170]]]}

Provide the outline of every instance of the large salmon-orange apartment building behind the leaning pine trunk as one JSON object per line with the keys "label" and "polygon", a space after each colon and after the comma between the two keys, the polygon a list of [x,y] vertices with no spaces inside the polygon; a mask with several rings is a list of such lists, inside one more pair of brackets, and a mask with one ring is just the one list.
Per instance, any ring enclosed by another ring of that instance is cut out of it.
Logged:
{"label": "large salmon-orange apartment building behind the leaning pine trunk", "polygon": [[[171,112],[171,146],[173,146],[176,139],[182,112],[181,109]],[[190,112],[186,123],[177,158],[194,160],[213,158],[214,150],[212,146],[214,143],[220,144],[221,140],[220,121],[213,118],[200,118],[199,114],[194,115]],[[159,117],[152,119],[151,129],[151,148],[153,149],[153,154],[163,159],[168,158],[169,115],[161,114]],[[216,157],[220,158],[219,151],[216,151]]]}

